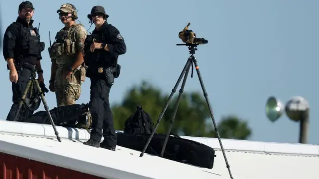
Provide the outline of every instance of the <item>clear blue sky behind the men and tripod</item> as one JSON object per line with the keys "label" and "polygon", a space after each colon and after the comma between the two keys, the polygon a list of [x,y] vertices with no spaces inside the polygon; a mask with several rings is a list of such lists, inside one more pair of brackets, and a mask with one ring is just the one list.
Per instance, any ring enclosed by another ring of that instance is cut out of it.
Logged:
{"label": "clear blue sky behind the men and tripod", "polygon": [[[1,36],[16,20],[22,1],[0,0]],[[249,121],[251,140],[298,142],[299,124],[283,115],[272,123],[265,115],[265,101],[274,95],[284,103],[300,95],[309,101],[309,143],[319,144],[319,23],[318,0],[32,0],[34,25],[40,22],[41,39],[49,46],[63,27],[56,10],[72,3],[85,28],[87,14],[102,5],[126,40],[127,53],[119,58],[121,76],[111,89],[110,101],[119,102],[126,90],[149,80],[169,94],[189,56],[178,32],[190,22],[197,37],[208,39],[199,46],[196,58],[217,122],[235,114]],[[94,27],[91,27],[91,32]],[[53,34],[53,35],[52,35]],[[47,86],[50,59],[42,53]],[[11,82],[6,62],[0,68],[0,119],[6,119],[12,104]],[[164,73],[165,72],[165,73]],[[89,101],[89,79],[83,84],[78,103]],[[188,78],[186,91],[201,87],[196,74]],[[177,95],[177,94],[176,94]],[[50,108],[55,94],[46,94]],[[43,105],[39,110],[44,110]]]}

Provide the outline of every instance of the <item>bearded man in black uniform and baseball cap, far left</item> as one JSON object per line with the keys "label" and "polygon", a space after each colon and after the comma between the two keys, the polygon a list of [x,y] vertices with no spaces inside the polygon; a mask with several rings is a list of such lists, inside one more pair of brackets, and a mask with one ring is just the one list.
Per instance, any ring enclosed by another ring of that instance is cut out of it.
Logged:
{"label": "bearded man in black uniform and baseball cap, far left", "polygon": [[[18,18],[7,27],[3,38],[3,56],[10,70],[9,79],[12,82],[13,105],[6,120],[14,120],[18,103],[31,75],[37,70],[39,83],[44,82],[40,60],[44,43],[40,42],[37,28],[32,26],[34,14],[33,4],[24,1],[19,5]],[[23,105],[17,121],[26,121],[34,111]],[[23,119],[24,118],[24,119]]]}

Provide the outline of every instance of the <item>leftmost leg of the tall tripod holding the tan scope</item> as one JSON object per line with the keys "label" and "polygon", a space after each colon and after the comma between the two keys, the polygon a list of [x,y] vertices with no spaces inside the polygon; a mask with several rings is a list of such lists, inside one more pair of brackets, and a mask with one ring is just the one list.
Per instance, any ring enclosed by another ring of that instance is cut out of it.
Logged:
{"label": "leftmost leg of the tall tripod holding the tan scope", "polygon": [[146,151],[146,148],[147,148],[148,145],[150,144],[150,141],[151,141],[151,139],[152,139],[152,137],[153,137],[153,135],[154,135],[156,129],[158,128],[158,126],[159,126],[159,124],[160,124],[160,120],[163,118],[163,115],[164,115],[164,113],[165,113],[165,111],[166,111],[166,109],[167,109],[167,107],[168,107],[168,105],[169,105],[169,103],[170,103],[170,100],[171,100],[171,98],[173,97],[174,93],[176,92],[176,89],[177,89],[177,87],[178,87],[178,85],[179,85],[181,79],[183,78],[183,75],[185,74],[186,69],[189,69],[189,68],[190,68],[191,62],[192,62],[191,59],[188,58],[188,60],[187,60],[187,62],[186,62],[186,64],[185,64],[185,66],[184,66],[184,69],[182,70],[182,72],[181,72],[181,74],[180,74],[180,76],[179,76],[179,78],[178,78],[178,80],[177,80],[177,82],[176,82],[176,84],[175,84],[175,87],[172,89],[172,91],[171,91],[171,93],[170,93],[170,95],[169,95],[169,97],[168,97],[168,99],[167,99],[167,102],[166,102],[166,104],[165,104],[165,106],[164,106],[162,112],[160,113],[160,117],[159,117],[159,119],[157,120],[157,122],[156,122],[156,124],[155,124],[154,130],[152,131],[152,134],[150,135],[148,141],[146,142],[146,144],[145,144],[145,146],[144,146],[144,148],[143,148],[143,150],[142,150],[142,152],[141,152],[141,154],[140,154],[140,157],[142,157],[142,156],[144,155],[144,152]]}

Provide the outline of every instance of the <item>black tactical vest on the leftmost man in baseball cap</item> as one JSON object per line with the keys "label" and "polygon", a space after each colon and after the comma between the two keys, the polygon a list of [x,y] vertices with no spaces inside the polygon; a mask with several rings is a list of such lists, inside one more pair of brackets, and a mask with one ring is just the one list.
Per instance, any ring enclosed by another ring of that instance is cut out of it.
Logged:
{"label": "black tactical vest on the leftmost man in baseball cap", "polygon": [[14,22],[20,26],[20,47],[23,52],[30,55],[38,55],[44,50],[44,43],[40,42],[38,29],[32,27],[24,27],[22,24]]}

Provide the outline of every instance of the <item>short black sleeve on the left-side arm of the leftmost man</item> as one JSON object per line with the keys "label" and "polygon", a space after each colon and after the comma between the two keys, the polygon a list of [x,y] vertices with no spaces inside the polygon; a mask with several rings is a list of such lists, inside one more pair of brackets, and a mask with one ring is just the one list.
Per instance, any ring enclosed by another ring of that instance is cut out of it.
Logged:
{"label": "short black sleeve on the left-side arm of the leftmost man", "polygon": [[17,44],[19,28],[11,24],[5,31],[3,37],[3,56],[4,60],[14,58],[14,48]]}

